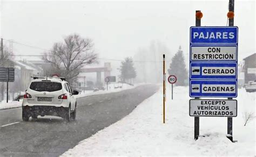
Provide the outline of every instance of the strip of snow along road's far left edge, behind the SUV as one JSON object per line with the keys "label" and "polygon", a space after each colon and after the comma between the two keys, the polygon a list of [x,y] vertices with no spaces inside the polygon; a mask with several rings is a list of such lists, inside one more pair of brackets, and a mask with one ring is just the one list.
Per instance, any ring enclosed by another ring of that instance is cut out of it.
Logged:
{"label": "strip of snow along road's far left edge, behind the SUV", "polygon": [[[129,84],[122,84],[122,83],[116,83],[116,84],[109,84],[109,89],[108,90],[98,90],[93,92],[92,90],[86,90],[85,92],[81,92],[79,95],[76,96],[76,98],[80,97],[86,97],[86,96],[92,96],[92,95],[99,95],[99,94],[107,94],[111,92],[118,92],[126,89],[132,89],[137,87],[138,85],[142,84],[136,84],[136,85],[129,85]],[[116,87],[116,88],[115,88]],[[117,88],[117,87],[122,87],[122,88]],[[10,109],[10,108],[19,108],[22,106],[22,99],[17,102],[17,101],[9,101],[6,103],[6,100],[2,101],[0,103],[0,110],[1,109]]]}

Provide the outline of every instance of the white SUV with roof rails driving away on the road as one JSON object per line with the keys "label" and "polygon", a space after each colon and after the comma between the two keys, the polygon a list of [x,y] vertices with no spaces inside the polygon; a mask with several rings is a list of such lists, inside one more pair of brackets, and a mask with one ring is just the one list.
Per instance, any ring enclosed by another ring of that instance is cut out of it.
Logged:
{"label": "white SUV with roof rails driving away on the road", "polygon": [[22,102],[22,119],[58,116],[68,121],[76,119],[76,97],[64,77],[33,77]]}

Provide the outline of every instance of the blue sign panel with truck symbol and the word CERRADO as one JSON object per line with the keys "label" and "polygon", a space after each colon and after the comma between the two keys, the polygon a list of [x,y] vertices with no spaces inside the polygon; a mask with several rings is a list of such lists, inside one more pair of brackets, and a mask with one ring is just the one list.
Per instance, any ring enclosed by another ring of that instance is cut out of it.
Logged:
{"label": "blue sign panel with truck symbol and the word CERRADO", "polygon": [[192,80],[236,80],[237,63],[192,62],[190,64]]}

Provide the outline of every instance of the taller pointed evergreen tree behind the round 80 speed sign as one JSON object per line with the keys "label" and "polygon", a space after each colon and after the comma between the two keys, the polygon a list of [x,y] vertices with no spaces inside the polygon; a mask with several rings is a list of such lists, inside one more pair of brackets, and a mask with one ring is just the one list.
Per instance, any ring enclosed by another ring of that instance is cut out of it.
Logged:
{"label": "taller pointed evergreen tree behind the round 80 speed sign", "polygon": [[181,46],[178,52],[173,56],[172,62],[170,63],[170,69],[168,69],[169,75],[175,75],[177,77],[176,85],[185,86],[187,85],[187,69],[184,61],[183,51]]}

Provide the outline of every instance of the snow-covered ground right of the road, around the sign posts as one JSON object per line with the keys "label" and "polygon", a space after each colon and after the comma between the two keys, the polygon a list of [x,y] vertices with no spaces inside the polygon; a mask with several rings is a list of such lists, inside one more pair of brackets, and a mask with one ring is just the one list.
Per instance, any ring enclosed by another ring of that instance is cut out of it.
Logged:
{"label": "snow-covered ground right of the road, around the sign posts", "polygon": [[[239,89],[238,116],[233,118],[232,143],[226,138],[227,118],[200,117],[200,137],[194,141],[194,117],[189,116],[188,87],[167,89],[166,123],[163,124],[162,91],[138,105],[130,115],[62,156],[254,156],[255,118],[244,126],[244,112],[254,112],[255,92]],[[203,135],[205,137],[203,137]]]}

